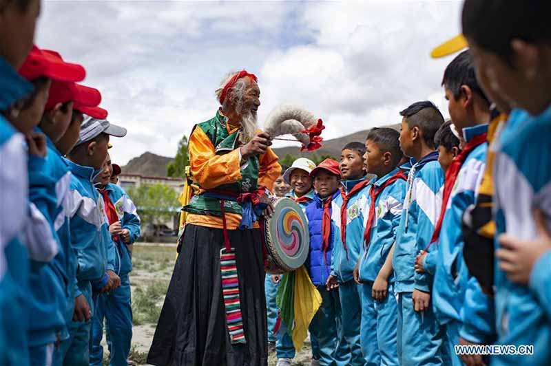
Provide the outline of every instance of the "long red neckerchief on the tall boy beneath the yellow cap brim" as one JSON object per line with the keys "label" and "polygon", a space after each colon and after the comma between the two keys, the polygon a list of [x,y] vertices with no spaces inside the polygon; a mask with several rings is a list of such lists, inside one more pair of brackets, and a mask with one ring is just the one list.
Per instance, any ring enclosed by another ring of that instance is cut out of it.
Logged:
{"label": "long red neckerchief on the tall boy beneath the yellow cap brim", "polygon": [[438,217],[438,222],[435,226],[433,237],[430,238],[430,242],[425,250],[427,250],[431,244],[437,241],[438,237],[440,236],[440,229],[442,227],[442,222],[444,221],[446,206],[448,206],[448,200],[450,199],[450,195],[452,194],[452,189],[455,185],[455,181],[457,180],[457,175],[459,175],[459,170],[461,169],[461,166],[465,162],[470,152],[480,144],[484,144],[484,142],[486,142],[486,133],[482,133],[481,135],[473,137],[469,142],[467,142],[461,153],[459,153],[459,155],[457,155],[453,159],[450,166],[448,166],[446,177],[444,178],[444,193],[442,194],[442,206],[440,208],[440,216]]}

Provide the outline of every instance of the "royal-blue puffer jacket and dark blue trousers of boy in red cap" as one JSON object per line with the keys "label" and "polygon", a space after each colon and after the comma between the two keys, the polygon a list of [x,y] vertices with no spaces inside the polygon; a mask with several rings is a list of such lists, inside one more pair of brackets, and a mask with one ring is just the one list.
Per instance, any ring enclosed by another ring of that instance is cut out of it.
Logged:
{"label": "royal-blue puffer jacket and dark blue trousers of boy in red cap", "polygon": [[[335,192],[333,200],[338,195],[340,195],[340,192]],[[322,222],[325,201],[316,194],[314,200],[306,207],[306,218],[308,219],[310,233],[310,252],[304,265],[313,285],[322,296],[322,305],[315,313],[309,330],[311,336],[318,342],[320,365],[344,366],[350,362],[350,351],[342,334],[339,292],[338,290],[328,291],[326,288],[327,277],[331,272],[335,224],[331,222],[328,248],[324,252],[322,248]],[[331,212],[331,205],[329,210]]]}

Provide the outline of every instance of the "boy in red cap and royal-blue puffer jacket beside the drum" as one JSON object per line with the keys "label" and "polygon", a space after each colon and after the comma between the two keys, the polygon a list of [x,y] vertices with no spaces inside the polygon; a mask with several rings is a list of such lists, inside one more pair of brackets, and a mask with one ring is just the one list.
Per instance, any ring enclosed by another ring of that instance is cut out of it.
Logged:
{"label": "boy in red cap and royal-blue puffer jacket beside the drum", "polygon": [[342,338],[339,292],[337,289],[326,288],[335,231],[335,224],[331,222],[331,202],[340,195],[339,163],[326,159],[310,175],[316,194],[313,202],[306,207],[310,252],[305,266],[312,283],[322,296],[322,305],[315,313],[309,330],[318,342],[320,365],[348,365],[350,356],[346,341]]}

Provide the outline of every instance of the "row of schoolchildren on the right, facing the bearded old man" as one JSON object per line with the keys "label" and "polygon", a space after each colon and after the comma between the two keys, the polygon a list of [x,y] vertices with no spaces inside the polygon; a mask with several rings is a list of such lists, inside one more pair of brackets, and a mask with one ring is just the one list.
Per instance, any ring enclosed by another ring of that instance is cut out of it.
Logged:
{"label": "row of schoolchildren on the right, facing the bearded old man", "polygon": [[[442,78],[449,121],[413,103],[399,132],[287,170],[323,299],[311,365],[549,364],[550,12],[466,0],[464,35],[444,45],[470,45]],[[281,332],[278,366],[291,365]],[[503,347],[457,347],[473,345]]]}

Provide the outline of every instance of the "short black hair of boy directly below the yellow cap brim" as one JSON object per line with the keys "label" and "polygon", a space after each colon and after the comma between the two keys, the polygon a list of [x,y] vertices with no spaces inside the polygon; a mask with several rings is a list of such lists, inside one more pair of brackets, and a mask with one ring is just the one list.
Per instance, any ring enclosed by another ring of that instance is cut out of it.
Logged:
{"label": "short black hair of boy directly below the yellow cap brim", "polygon": [[444,70],[442,85],[450,89],[455,98],[459,98],[461,95],[461,85],[467,85],[472,92],[478,93],[488,105],[490,104],[490,100],[478,85],[475,63],[472,61],[472,54],[469,50],[461,52],[449,63]]}

